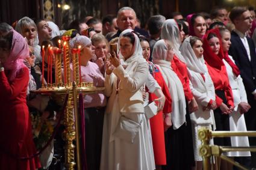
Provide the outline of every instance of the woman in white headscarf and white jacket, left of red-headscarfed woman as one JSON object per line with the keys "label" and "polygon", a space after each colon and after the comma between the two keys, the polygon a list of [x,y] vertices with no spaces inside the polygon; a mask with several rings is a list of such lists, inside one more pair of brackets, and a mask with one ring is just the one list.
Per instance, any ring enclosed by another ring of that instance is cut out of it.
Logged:
{"label": "woman in white headscarf and white jacket, left of red-headscarfed woman", "polygon": [[[198,37],[188,37],[181,46],[181,54],[187,64],[190,79],[190,89],[198,103],[198,111],[190,114],[192,121],[193,147],[196,166],[202,169],[202,157],[199,155],[201,141],[198,139],[198,129],[214,125],[213,109],[216,109],[215,90],[213,81],[205,65],[202,48],[202,40]],[[213,141],[211,140],[211,144]]]}

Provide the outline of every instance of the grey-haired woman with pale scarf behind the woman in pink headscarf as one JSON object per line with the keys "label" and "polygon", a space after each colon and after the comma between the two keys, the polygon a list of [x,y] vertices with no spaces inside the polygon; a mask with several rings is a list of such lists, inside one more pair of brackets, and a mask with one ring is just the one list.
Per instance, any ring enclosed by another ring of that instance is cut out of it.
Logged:
{"label": "grey-haired woman with pale scarf behind the woman in pink headscarf", "polygon": [[35,62],[42,61],[42,58],[40,55],[40,46],[39,46],[39,39],[37,35],[36,23],[34,23],[34,21],[29,17],[23,17],[17,22],[15,30],[27,39],[27,42],[30,46],[34,47],[34,54],[36,56]]}

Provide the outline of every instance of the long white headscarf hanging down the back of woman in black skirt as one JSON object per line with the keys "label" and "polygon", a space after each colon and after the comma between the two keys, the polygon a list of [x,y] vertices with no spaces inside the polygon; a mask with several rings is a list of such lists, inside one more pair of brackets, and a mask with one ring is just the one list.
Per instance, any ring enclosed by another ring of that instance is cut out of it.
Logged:
{"label": "long white headscarf hanging down the back of woman in black skirt", "polygon": [[186,100],[183,85],[177,74],[170,67],[170,61],[166,61],[168,48],[164,40],[155,43],[152,52],[152,61],[158,65],[170,96],[172,96],[172,124],[173,129],[178,129],[186,122]]}

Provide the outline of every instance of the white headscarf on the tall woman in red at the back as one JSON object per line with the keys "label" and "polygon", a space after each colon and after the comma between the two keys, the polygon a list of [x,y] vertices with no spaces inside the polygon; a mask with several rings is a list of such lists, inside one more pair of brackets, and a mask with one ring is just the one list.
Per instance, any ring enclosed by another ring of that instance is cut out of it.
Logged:
{"label": "white headscarf on the tall woman in red at the back", "polygon": [[174,19],[164,21],[161,29],[161,39],[169,40],[173,44],[173,51],[178,58],[185,62],[183,55],[180,52],[181,34],[178,23]]}

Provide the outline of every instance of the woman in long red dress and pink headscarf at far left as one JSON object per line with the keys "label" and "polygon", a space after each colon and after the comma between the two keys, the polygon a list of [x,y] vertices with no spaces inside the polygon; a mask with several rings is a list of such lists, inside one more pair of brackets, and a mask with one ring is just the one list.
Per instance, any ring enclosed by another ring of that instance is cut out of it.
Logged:
{"label": "woman in long red dress and pink headscarf at far left", "polygon": [[23,64],[30,56],[28,45],[14,30],[1,35],[0,129],[4,137],[0,138],[0,169],[36,169],[38,157],[21,159],[36,153],[26,103],[29,71]]}

